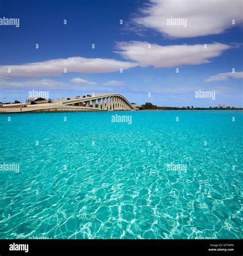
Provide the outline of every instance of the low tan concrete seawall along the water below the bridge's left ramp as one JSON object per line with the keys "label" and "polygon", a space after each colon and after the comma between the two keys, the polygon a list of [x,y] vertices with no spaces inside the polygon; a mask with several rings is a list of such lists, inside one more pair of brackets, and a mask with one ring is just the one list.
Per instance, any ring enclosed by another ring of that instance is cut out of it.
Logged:
{"label": "low tan concrete seawall along the water below the bridge's left ramp", "polygon": [[0,113],[22,113],[22,112],[70,112],[70,111],[98,111],[98,108],[93,107],[77,107],[66,105],[50,105],[50,106],[34,106],[23,108],[8,108],[1,107]]}

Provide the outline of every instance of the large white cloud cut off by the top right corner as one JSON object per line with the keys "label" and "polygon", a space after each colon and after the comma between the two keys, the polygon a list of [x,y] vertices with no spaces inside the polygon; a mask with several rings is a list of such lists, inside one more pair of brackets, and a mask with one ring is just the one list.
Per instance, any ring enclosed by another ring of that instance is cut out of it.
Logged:
{"label": "large white cloud cut off by the top right corner", "polygon": [[[133,21],[169,37],[220,34],[242,24],[241,0],[150,0]],[[167,18],[186,18],[187,27],[169,26]],[[235,20],[235,25],[232,24]]]}

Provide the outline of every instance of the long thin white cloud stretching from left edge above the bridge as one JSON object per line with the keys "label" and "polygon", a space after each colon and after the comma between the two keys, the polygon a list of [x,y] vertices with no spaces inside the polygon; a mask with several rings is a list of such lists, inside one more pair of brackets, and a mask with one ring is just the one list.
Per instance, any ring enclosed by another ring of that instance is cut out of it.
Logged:
{"label": "long thin white cloud stretching from left edge above the bridge", "polygon": [[[120,68],[129,69],[135,66],[137,66],[135,63],[116,61],[109,58],[70,57],[23,65],[0,66],[0,77],[34,78],[40,76],[58,76],[64,73],[65,68],[67,69],[67,73],[119,72]],[[8,68],[10,68],[11,73],[8,73]]]}

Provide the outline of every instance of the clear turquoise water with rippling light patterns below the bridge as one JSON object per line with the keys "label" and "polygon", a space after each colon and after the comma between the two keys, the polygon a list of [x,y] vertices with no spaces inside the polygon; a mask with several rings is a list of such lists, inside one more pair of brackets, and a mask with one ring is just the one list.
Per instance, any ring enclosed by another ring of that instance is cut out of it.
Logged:
{"label": "clear turquoise water with rippling light patterns below the bridge", "polygon": [[0,171],[1,239],[242,238],[243,112],[1,114],[0,125],[0,164],[19,164]]}

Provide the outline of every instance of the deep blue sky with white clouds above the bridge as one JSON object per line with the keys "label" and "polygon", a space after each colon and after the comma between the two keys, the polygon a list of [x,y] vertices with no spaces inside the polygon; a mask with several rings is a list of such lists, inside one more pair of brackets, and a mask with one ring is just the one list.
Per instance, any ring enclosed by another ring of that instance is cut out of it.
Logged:
{"label": "deep blue sky with white clouds above the bridge", "polygon": [[[117,92],[137,104],[243,107],[241,11],[238,0],[0,0],[0,18],[19,18],[19,27],[0,26],[0,101],[42,90],[52,99]],[[168,17],[187,27],[166,26]],[[216,99],[196,99],[198,90]]]}

